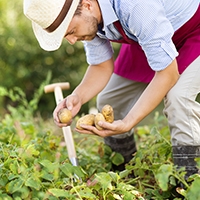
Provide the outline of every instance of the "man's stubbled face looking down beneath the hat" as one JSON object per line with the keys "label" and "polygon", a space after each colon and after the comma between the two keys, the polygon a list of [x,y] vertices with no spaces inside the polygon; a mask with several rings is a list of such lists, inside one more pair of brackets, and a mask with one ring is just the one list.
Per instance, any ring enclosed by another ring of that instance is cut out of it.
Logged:
{"label": "man's stubbled face looking down beneath the hat", "polygon": [[70,44],[76,41],[92,40],[98,31],[98,21],[87,13],[75,15],[69,24],[65,38]]}

